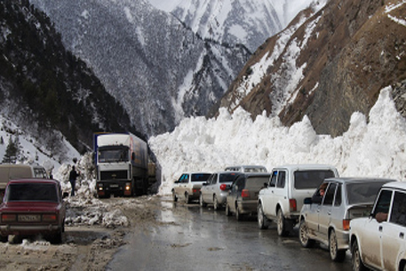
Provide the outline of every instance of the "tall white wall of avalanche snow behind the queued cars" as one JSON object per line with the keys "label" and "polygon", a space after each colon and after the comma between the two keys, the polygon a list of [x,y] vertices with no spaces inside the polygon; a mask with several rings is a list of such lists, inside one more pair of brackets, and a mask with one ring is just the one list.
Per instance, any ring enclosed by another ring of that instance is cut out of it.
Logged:
{"label": "tall white wall of avalanche snow behind the queued cars", "polygon": [[359,112],[337,138],[318,135],[307,116],[290,128],[278,117],[221,109],[217,119],[190,117],[171,133],[149,139],[162,167],[159,194],[171,193],[184,171],[222,171],[233,164],[261,164],[270,171],[286,163],[328,163],[341,176],[403,180],[406,169],[406,123],[396,111],[391,87],[381,91],[369,122]]}

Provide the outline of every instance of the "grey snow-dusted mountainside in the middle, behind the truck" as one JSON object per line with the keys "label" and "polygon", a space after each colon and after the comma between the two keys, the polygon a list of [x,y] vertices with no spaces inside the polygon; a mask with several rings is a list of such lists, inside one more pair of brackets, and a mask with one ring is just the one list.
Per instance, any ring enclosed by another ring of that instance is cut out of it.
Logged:
{"label": "grey snow-dusted mountainside in the middle, behind the truck", "polygon": [[197,36],[146,1],[32,0],[85,60],[131,124],[149,135],[205,115],[251,53]]}

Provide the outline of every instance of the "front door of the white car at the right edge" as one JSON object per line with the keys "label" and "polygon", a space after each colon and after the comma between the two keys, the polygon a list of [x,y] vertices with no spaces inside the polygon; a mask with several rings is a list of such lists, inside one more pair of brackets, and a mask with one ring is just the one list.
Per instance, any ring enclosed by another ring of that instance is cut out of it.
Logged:
{"label": "front door of the white car at the right edge", "polygon": [[389,213],[390,203],[392,201],[392,191],[388,189],[382,189],[378,195],[378,201],[372,211],[373,217],[371,217],[366,223],[362,231],[362,258],[363,262],[377,269],[382,268],[381,259],[381,238],[382,231],[386,226],[386,221],[378,222],[375,217],[378,213]]}

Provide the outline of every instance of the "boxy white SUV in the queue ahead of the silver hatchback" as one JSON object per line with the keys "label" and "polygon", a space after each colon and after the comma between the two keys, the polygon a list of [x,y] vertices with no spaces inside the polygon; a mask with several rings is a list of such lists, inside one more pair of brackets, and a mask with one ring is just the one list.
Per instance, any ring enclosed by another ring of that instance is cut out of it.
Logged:
{"label": "boxy white SUV in the queue ahead of the silver hatchback", "polygon": [[330,177],[338,177],[337,169],[331,165],[296,164],[274,168],[267,187],[259,191],[259,228],[267,228],[269,220],[275,220],[278,235],[289,235],[299,222],[303,200]]}

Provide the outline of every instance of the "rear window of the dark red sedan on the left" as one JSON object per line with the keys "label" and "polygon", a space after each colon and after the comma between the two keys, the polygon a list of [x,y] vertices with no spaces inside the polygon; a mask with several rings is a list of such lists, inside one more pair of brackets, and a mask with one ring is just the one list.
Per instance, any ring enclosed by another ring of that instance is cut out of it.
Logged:
{"label": "rear window of the dark red sedan on the left", "polygon": [[7,202],[58,202],[55,185],[45,183],[10,184],[5,195]]}

